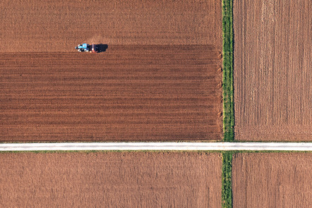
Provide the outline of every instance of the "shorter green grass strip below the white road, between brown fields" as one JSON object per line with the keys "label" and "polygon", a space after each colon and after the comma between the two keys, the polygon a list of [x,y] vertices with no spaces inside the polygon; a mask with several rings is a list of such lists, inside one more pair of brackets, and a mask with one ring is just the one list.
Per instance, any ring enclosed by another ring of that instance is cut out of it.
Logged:
{"label": "shorter green grass strip below the white road, between brown fields", "polygon": [[232,208],[232,157],[233,152],[222,154],[222,208]]}

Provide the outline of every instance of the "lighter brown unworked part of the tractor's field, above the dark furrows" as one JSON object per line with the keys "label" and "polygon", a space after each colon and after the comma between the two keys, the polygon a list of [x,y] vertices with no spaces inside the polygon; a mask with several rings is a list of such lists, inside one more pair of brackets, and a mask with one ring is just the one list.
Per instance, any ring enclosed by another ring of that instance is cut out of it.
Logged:
{"label": "lighter brown unworked part of the tractor's field, above the dark furrows", "polygon": [[74,51],[82,42],[222,49],[217,0],[1,0],[0,8],[0,51]]}

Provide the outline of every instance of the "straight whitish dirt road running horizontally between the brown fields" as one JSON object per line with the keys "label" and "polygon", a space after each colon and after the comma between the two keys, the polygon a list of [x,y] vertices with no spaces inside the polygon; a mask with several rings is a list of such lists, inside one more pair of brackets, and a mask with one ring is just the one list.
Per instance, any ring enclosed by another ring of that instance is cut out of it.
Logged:
{"label": "straight whitish dirt road running horizontally between the brown fields", "polygon": [[312,151],[312,142],[65,142],[0,144],[0,151],[50,150]]}

